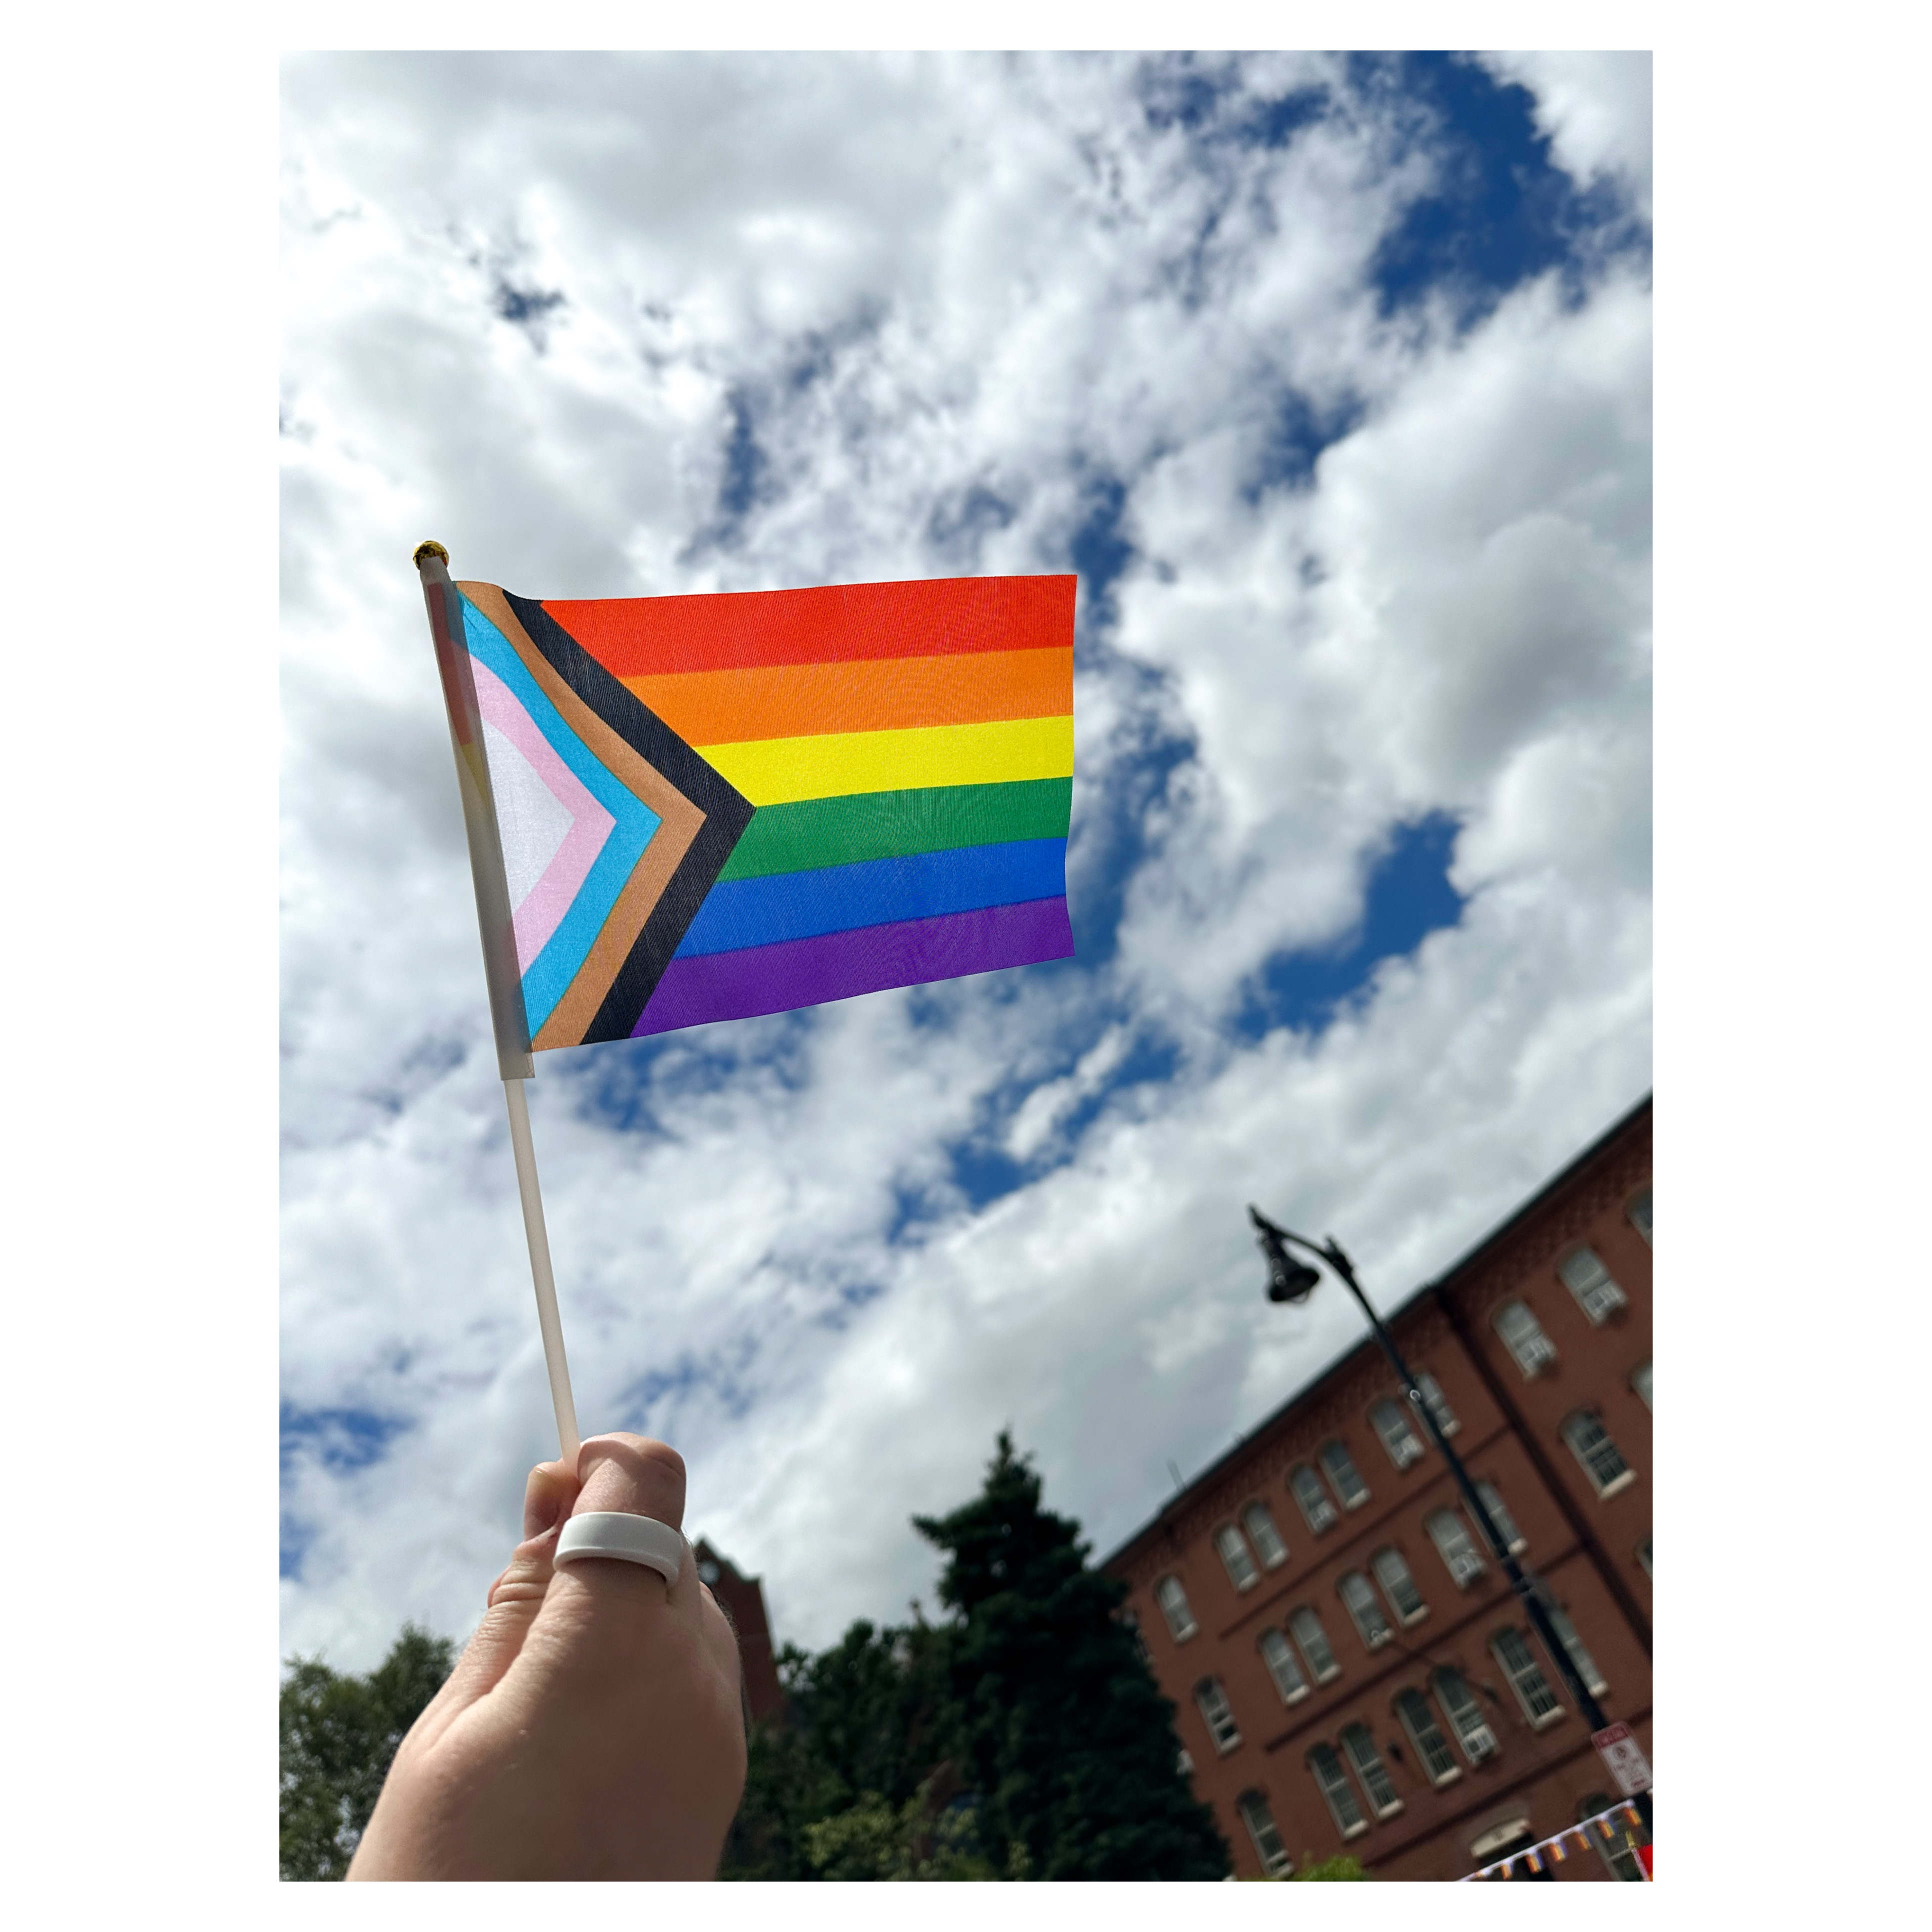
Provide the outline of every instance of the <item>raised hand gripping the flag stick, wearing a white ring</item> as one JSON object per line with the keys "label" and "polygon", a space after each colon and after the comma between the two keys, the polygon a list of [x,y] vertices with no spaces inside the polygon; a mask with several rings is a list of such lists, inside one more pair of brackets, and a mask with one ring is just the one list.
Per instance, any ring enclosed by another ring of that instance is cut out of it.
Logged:
{"label": "raised hand gripping the flag stick, wearing a white ring", "polygon": [[682,1528],[684,1461],[593,1435],[576,1470],[531,1470],[524,1542],[396,1750],[352,1880],[717,1876],[744,1793],[738,1640],[690,1546],[668,1590],[614,1557],[553,1571],[593,1509]]}

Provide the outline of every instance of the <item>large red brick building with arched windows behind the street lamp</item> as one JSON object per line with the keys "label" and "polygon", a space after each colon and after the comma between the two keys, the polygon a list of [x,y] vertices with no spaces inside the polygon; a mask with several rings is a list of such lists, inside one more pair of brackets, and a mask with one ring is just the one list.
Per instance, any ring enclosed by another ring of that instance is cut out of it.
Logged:
{"label": "large red brick building with arched windows behind the street lamp", "polygon": [[[1648,1097],[1383,1316],[1648,1756]],[[1350,1851],[1376,1878],[1461,1878],[1619,1797],[1405,1406],[1364,1333],[1103,1565],[1240,1876]],[[1571,1849],[1553,1876],[1640,1872]]]}

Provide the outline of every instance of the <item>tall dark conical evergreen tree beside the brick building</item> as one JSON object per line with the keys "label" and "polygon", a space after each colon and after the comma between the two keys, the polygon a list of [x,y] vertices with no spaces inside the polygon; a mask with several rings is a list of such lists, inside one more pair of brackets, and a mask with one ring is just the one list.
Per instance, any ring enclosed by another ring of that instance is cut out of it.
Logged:
{"label": "tall dark conical evergreen tree beside the brick building", "polygon": [[1032,1878],[1225,1878],[1227,1843],[1179,1770],[1175,1706],[1115,1617],[1126,1586],[1039,1507],[1012,1439],[974,1501],[914,1526],[949,1557],[949,1729],[983,1857]]}

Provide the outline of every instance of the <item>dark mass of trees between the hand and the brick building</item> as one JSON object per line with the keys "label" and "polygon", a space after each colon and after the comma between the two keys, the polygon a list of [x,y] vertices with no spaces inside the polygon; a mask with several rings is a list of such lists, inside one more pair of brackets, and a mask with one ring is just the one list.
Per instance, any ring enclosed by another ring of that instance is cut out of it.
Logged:
{"label": "dark mass of trees between the hand and the brick building", "polygon": [[786,1648],[786,1721],[752,1739],[726,1878],[1221,1878],[1173,1704],[1080,1528],[999,1437],[980,1495],[916,1519],[945,1623]]}

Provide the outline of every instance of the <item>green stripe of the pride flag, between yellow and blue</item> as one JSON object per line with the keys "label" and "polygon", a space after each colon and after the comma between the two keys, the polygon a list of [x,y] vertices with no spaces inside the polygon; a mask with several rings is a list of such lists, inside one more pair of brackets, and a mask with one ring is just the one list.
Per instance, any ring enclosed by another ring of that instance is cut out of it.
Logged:
{"label": "green stripe of the pride flag, between yellow and blue", "polygon": [[1024,779],[759,806],[719,883],[1014,838],[1065,838],[1072,798],[1072,779]]}

